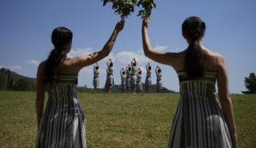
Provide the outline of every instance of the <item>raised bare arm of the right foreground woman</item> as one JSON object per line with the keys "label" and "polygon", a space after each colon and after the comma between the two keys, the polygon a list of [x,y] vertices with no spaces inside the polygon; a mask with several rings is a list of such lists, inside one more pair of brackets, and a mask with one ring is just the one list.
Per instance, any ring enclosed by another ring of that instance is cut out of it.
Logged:
{"label": "raised bare arm of the right foreground woman", "polygon": [[157,50],[152,50],[150,39],[147,35],[147,27],[150,25],[150,18],[145,17],[142,22],[142,44],[146,57],[162,64],[174,66],[178,62],[178,53],[164,53]]}

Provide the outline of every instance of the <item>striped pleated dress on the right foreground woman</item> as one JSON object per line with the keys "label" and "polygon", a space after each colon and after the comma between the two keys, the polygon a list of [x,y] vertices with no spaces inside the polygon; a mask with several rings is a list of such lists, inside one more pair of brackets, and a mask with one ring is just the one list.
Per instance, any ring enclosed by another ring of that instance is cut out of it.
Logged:
{"label": "striped pleated dress on the right foreground woman", "polygon": [[216,70],[191,80],[178,71],[180,100],[168,148],[231,148],[226,119],[215,93]]}

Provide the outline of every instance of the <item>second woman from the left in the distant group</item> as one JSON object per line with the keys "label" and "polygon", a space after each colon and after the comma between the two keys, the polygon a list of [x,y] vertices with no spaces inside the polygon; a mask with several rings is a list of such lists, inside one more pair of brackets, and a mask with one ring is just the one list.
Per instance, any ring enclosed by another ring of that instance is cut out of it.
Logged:
{"label": "second woman from the left in the distant group", "polygon": [[108,71],[106,84],[107,84],[109,93],[111,93],[112,86],[114,85],[114,77],[113,77],[114,65],[111,58],[109,59],[109,61],[106,62],[106,65],[107,65],[107,71]]}

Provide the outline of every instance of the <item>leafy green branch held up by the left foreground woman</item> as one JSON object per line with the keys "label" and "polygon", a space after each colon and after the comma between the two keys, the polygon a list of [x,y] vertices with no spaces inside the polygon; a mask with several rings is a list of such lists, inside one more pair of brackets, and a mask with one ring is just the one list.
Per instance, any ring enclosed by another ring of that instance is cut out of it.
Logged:
{"label": "leafy green branch held up by the left foreground woman", "polygon": [[113,2],[112,9],[115,10],[114,13],[119,15],[121,18],[127,18],[128,15],[131,15],[131,12],[134,13],[134,7],[137,5],[138,0],[101,0],[103,1],[103,6],[108,2]]}

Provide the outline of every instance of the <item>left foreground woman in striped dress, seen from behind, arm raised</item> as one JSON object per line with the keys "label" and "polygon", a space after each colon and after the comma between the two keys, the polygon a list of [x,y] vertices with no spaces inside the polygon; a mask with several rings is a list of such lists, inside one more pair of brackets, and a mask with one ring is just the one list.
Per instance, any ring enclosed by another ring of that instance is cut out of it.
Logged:
{"label": "left foreground woman in striped dress, seen from behind, arm raised", "polygon": [[[38,66],[38,137],[35,147],[86,147],[86,123],[77,98],[78,73],[110,54],[124,22],[117,23],[101,51],[75,58],[67,58],[72,46],[72,32],[65,27],[54,29],[51,36],[54,50]],[[43,113],[45,90],[48,101]]]}

